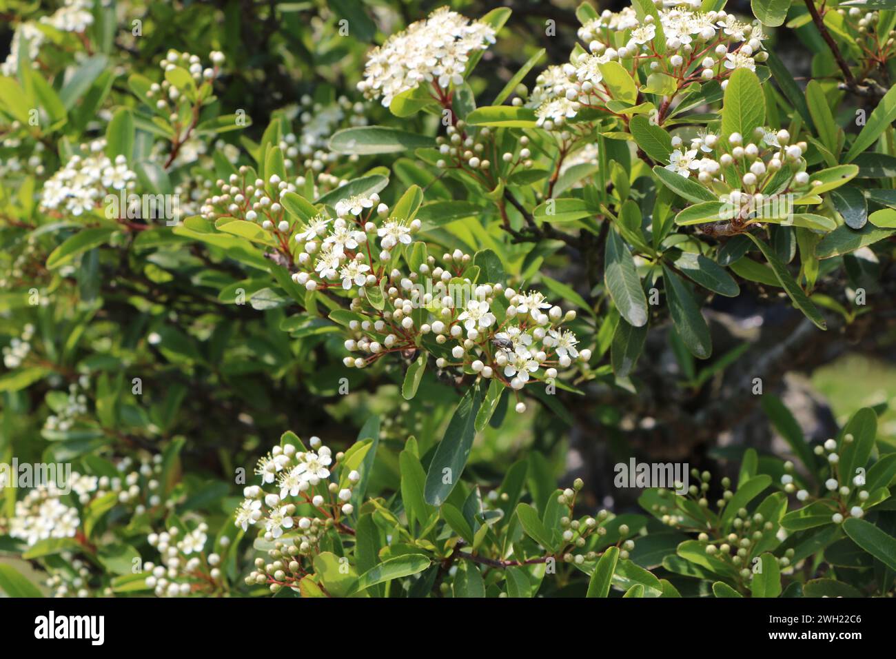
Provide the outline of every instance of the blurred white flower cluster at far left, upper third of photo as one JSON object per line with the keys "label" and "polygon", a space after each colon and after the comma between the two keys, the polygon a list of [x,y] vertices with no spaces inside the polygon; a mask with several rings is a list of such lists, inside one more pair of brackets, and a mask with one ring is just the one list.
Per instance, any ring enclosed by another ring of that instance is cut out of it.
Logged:
{"label": "blurred white flower cluster at far left, upper third of photo", "polygon": [[134,188],[137,175],[128,169],[125,156],[113,162],[103,153],[105,148],[106,140],[94,140],[86,150],[90,155],[73,155],[44,184],[41,207],[77,217],[96,209],[110,191]]}

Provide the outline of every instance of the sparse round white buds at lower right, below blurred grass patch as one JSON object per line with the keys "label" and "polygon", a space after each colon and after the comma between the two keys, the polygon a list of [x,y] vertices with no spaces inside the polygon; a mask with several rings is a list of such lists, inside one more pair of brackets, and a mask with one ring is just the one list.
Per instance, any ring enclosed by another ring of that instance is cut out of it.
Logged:
{"label": "sparse round white buds at lower right, below blurred grass patch", "polygon": [[[850,433],[843,436],[844,447],[852,444],[855,440]],[[831,509],[831,522],[834,524],[842,524],[847,517],[865,516],[865,508],[870,494],[865,490],[865,472],[864,469],[855,476],[849,473],[840,473],[838,465],[840,464],[840,454],[837,452],[837,440],[827,439],[823,444],[814,447],[815,455],[826,455],[827,464],[830,469],[830,477],[824,481],[824,489],[827,490],[826,496],[815,498],[809,490],[797,490],[796,482],[793,477],[793,463],[784,464],[784,471],[787,472],[781,476],[781,484],[784,491],[788,494],[796,492],[797,499],[801,502],[822,501],[824,505]],[[851,479],[850,479],[851,476]]]}

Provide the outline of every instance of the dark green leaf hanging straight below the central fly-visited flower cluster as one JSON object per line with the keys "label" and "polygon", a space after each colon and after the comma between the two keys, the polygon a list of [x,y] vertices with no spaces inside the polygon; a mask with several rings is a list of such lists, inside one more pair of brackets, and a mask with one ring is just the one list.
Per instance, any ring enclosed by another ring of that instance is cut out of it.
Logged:
{"label": "dark green leaf hanging straight below the central fly-visited flower cluster", "polygon": [[435,455],[426,472],[424,490],[426,502],[432,506],[441,506],[461,479],[470,457],[470,448],[473,447],[473,438],[476,437],[476,415],[481,403],[482,394],[477,383],[463,395],[442,441],[435,447]]}

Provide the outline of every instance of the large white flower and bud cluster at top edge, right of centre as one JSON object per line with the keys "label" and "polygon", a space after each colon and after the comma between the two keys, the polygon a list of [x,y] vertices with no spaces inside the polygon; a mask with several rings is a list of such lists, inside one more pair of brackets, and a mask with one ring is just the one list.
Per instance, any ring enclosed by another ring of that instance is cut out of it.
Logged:
{"label": "large white flower and bud cluster at top edge, right of centre", "polygon": [[[725,11],[692,11],[687,2],[657,4],[661,30],[652,15],[639,20],[631,7],[604,11],[582,26],[579,38],[588,52],[573,56],[569,64],[549,67],[538,78],[528,105],[536,108],[539,126],[552,130],[582,108],[607,109],[607,101],[616,100],[601,68],[609,62],[630,73],[649,63],[650,74],[674,82],[663,91],[669,97],[701,80],[717,80],[724,88],[735,69],[754,71],[756,62],[765,61],[761,23],[740,22]],[[673,6],[664,7],[669,4]]]}

